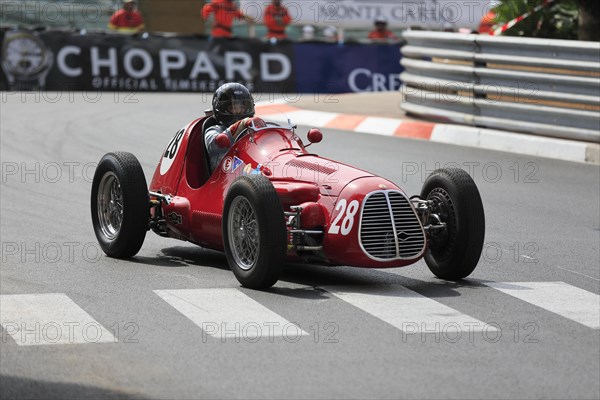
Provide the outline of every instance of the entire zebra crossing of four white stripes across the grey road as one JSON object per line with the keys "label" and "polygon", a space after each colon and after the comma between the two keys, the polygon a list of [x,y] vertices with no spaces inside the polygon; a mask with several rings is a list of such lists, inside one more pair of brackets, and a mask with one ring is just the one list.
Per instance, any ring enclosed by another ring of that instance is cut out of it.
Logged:
{"label": "entire zebra crossing of four white stripes across the grey road", "polygon": [[[600,328],[600,296],[564,282],[490,282],[492,289],[593,329]],[[325,290],[401,330],[404,336],[497,331],[485,323],[400,285],[326,286]],[[257,341],[308,333],[238,289],[155,290],[207,336]],[[0,295],[2,342],[20,346],[109,343],[118,340],[63,293]]]}

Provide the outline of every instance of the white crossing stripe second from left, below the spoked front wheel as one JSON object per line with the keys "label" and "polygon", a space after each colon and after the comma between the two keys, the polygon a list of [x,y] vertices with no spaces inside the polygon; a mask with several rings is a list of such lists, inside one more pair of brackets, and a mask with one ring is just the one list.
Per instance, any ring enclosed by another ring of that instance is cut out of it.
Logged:
{"label": "white crossing stripe second from left, below the spoked front wheel", "polygon": [[258,341],[275,337],[296,340],[308,335],[238,289],[155,290],[158,296],[189,318],[206,335]]}

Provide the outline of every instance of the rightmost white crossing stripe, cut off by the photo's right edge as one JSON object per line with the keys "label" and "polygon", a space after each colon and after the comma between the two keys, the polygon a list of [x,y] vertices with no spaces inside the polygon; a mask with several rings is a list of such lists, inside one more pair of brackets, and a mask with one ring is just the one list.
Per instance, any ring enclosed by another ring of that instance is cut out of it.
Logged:
{"label": "rightmost white crossing stripe, cut off by the photo's right edge", "polygon": [[490,282],[497,289],[590,328],[600,328],[600,296],[564,282]]}

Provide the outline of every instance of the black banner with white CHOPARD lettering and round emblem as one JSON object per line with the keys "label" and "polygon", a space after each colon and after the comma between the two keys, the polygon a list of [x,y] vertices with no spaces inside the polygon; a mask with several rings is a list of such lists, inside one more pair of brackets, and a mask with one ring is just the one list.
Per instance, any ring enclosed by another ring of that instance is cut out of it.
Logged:
{"label": "black banner with white CHOPARD lettering and round emblem", "polygon": [[227,81],[295,90],[293,48],[258,40],[5,31],[2,89],[210,92]]}

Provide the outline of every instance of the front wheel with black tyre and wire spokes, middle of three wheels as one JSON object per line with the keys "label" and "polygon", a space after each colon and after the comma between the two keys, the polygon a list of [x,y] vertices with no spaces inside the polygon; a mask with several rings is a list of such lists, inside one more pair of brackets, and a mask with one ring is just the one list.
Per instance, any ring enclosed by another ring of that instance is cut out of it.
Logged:
{"label": "front wheel with black tyre and wire spokes, middle of three wheels", "polygon": [[227,262],[242,286],[273,286],[285,261],[287,230],[271,182],[262,175],[237,178],[225,197],[222,227]]}

